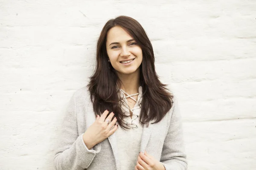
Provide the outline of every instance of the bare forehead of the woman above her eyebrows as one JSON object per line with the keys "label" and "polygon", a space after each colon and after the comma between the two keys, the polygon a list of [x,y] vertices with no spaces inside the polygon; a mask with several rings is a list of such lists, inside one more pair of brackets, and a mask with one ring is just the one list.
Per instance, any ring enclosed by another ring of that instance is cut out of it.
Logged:
{"label": "bare forehead of the woman above her eyebrows", "polygon": [[122,27],[115,26],[108,31],[107,34],[107,44],[111,42],[126,42],[127,40],[131,40],[131,37]]}

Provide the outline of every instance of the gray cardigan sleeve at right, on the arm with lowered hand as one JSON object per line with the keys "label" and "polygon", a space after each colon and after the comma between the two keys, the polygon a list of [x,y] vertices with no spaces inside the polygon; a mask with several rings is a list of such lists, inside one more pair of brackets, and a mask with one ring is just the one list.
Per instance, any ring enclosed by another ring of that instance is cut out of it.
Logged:
{"label": "gray cardigan sleeve at right, on the arm with lowered hand", "polygon": [[173,101],[174,108],[171,109],[172,117],[169,130],[163,144],[160,162],[162,162],[166,170],[187,170],[181,116],[177,99],[174,98]]}

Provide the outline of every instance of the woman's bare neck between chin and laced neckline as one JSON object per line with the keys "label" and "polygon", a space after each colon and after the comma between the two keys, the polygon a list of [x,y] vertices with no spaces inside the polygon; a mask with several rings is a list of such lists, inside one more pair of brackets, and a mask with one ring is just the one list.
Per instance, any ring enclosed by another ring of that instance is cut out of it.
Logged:
{"label": "woman's bare neck between chin and laced neckline", "polygon": [[132,74],[119,74],[118,77],[121,80],[120,88],[128,94],[139,93],[140,87],[140,69],[138,68]]}

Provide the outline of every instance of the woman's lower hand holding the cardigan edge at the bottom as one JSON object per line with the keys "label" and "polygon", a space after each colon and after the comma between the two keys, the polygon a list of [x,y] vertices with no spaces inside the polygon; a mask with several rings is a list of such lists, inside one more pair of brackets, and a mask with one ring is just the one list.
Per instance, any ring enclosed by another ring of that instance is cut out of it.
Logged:
{"label": "woman's lower hand holding the cardigan edge at the bottom", "polygon": [[165,170],[165,167],[145,151],[144,154],[140,152],[135,170]]}

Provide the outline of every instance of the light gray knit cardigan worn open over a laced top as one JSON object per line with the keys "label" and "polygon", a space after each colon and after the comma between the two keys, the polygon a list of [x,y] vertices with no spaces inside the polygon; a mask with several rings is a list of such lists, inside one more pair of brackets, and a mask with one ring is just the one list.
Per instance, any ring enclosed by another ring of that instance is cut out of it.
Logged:
{"label": "light gray knit cardigan worn open over a laced top", "polygon": [[[55,150],[55,170],[121,170],[115,133],[90,150],[84,144],[83,134],[95,119],[90,92],[86,87],[81,88],[70,99],[64,114]],[[182,131],[174,100],[174,106],[160,122],[143,126],[140,151],[146,150],[166,170],[186,170]]]}

